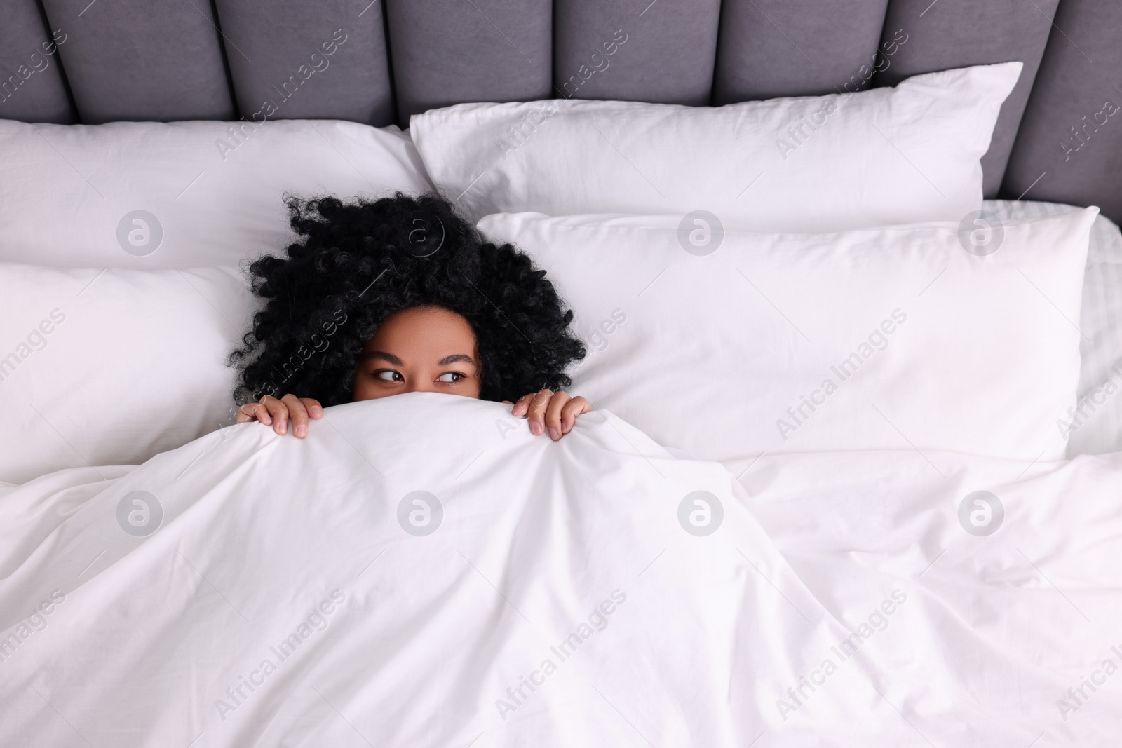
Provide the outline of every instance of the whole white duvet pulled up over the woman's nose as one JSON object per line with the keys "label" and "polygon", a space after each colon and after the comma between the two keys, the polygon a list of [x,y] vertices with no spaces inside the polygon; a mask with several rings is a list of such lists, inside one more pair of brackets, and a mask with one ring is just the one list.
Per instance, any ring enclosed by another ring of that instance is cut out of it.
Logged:
{"label": "whole white duvet pulled up over the woman's nose", "polygon": [[1122,454],[737,482],[426,394],[311,431],[0,495],[0,746],[1122,740]]}

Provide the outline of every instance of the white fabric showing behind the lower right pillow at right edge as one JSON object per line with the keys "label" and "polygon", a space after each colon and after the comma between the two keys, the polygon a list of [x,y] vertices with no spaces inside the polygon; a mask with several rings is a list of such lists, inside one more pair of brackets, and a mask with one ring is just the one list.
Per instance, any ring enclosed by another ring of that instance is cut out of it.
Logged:
{"label": "white fabric showing behind the lower right pillow at right edge", "polygon": [[[987,200],[1002,220],[1058,215],[1078,207],[1061,203]],[[1104,215],[1095,218],[1083,280],[1079,401],[1064,414],[1067,456],[1122,452],[1122,232]]]}

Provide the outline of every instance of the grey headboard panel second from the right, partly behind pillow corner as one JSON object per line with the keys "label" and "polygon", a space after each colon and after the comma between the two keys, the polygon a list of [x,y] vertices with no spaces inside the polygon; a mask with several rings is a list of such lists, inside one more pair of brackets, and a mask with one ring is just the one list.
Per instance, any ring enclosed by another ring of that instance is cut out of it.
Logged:
{"label": "grey headboard panel second from the right, partly behind pillow corner", "polygon": [[982,158],[983,191],[996,197],[1051,29],[1058,0],[892,0],[884,38],[908,36],[877,73],[876,85],[895,85],[919,73],[1019,59],[1024,70],[1005,100],[990,150]]}

